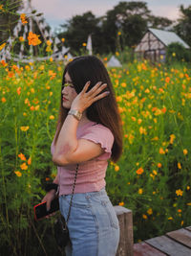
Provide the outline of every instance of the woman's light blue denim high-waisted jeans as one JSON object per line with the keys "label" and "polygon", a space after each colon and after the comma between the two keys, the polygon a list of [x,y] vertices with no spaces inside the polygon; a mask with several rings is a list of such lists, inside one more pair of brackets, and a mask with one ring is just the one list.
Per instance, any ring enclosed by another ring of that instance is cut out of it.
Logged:
{"label": "woman's light blue denim high-waisted jeans", "polygon": [[[67,219],[71,195],[60,196],[60,211]],[[74,194],[68,221],[71,244],[67,256],[115,256],[119,241],[116,212],[105,189]]]}

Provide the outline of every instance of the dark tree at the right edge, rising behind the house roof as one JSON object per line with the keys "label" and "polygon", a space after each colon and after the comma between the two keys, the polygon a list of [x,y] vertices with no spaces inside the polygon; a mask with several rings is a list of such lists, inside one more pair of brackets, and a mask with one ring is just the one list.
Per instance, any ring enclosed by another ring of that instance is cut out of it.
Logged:
{"label": "dark tree at the right edge, rising behind the house roof", "polygon": [[184,8],[180,5],[180,19],[174,27],[175,32],[191,46],[191,6]]}

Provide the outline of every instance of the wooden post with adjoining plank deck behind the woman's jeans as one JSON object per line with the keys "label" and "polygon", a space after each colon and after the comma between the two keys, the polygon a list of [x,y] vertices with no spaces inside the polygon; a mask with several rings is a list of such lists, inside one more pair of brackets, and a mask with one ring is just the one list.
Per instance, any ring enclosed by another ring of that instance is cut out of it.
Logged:
{"label": "wooden post with adjoining plank deck behind the woman's jeans", "polygon": [[122,206],[114,208],[120,226],[116,256],[191,256],[191,226],[134,244],[132,211]]}

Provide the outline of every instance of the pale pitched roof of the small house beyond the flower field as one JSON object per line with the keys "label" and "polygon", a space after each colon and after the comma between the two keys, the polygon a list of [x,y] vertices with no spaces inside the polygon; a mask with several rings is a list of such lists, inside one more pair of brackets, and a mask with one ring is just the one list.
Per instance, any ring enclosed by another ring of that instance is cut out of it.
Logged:
{"label": "pale pitched roof of the small house beyond the flower field", "polygon": [[179,42],[182,44],[186,49],[189,49],[189,45],[187,45],[179,35],[175,34],[174,32],[168,32],[168,31],[162,31],[162,30],[156,30],[156,29],[151,29],[149,28],[149,31],[153,34],[156,35],[159,40],[168,46],[169,44],[173,42]]}

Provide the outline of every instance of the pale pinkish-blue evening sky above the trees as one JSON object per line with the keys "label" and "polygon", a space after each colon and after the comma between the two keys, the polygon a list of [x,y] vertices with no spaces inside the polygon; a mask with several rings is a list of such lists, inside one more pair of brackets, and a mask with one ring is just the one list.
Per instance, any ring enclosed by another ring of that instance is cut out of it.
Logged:
{"label": "pale pinkish-blue evening sky above the trees", "polygon": [[[47,23],[53,30],[76,14],[91,11],[96,16],[104,15],[121,1],[125,0],[31,0],[32,7],[44,13]],[[191,5],[191,0],[143,0],[143,2],[147,3],[148,9],[154,15],[172,20],[180,17],[180,5],[184,8]]]}

